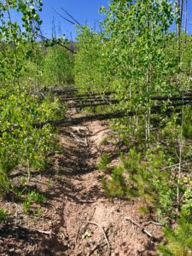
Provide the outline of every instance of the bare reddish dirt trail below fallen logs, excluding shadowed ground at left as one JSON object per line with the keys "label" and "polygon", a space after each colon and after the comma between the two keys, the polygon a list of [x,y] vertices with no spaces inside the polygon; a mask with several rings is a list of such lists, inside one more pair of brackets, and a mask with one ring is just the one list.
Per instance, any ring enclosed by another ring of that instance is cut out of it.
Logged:
{"label": "bare reddish dirt trail below fallen logs, excluding shadowed ground at left", "polygon": [[[98,171],[97,162],[103,150],[113,153],[112,144],[102,144],[111,131],[100,121],[76,126],[76,131],[74,127],[69,130],[73,132],[71,137],[61,136],[64,147],[68,146],[68,154],[60,166],[66,170],[66,161],[70,166],[63,181],[64,225],[59,230],[67,240],[67,251],[61,255],[156,255],[155,245],[148,236],[125,220],[125,217],[139,223],[145,220],[138,211],[141,203],[109,201],[102,192],[104,173]],[[148,230],[160,236],[155,226],[148,226]]]}

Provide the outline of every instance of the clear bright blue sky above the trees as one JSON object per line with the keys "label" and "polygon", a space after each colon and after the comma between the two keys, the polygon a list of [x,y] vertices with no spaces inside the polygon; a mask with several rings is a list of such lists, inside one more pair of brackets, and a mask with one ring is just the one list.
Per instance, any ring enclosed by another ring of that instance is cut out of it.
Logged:
{"label": "clear bright blue sky above the trees", "polygon": [[[80,24],[89,24],[92,28],[99,29],[99,20],[103,20],[104,16],[98,13],[98,10],[104,6],[108,6],[109,0],[43,0],[44,7],[40,14],[43,20],[42,31],[44,35],[51,36],[51,27],[53,16],[55,17],[55,31],[59,34],[59,26],[61,26],[61,33],[65,34],[67,38],[75,39],[75,26],[71,25],[66,20],[63,20],[55,11],[69,18],[62,10],[66,9],[70,15],[79,21]],[[192,0],[188,0],[188,31],[192,34]],[[55,11],[54,11],[55,9]],[[19,20],[19,15],[15,15],[15,19]]]}

